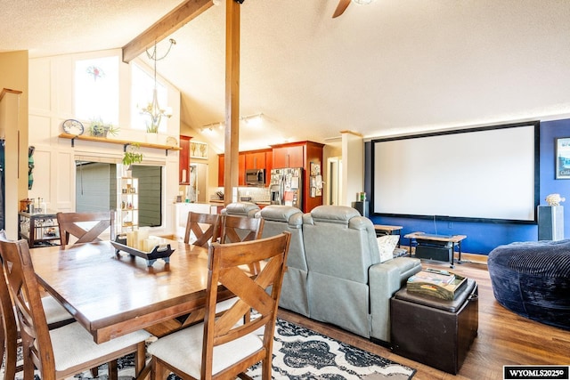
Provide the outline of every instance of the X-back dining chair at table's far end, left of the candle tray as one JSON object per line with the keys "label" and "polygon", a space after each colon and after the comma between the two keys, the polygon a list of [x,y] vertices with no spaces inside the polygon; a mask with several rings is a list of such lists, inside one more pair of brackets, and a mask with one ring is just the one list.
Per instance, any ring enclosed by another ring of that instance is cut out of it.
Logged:
{"label": "X-back dining chair at table's far end, left of the candle tray", "polygon": [[115,239],[115,211],[96,213],[57,213],[60,226],[61,249],[69,244],[69,236],[77,238],[73,244],[101,241],[99,236],[110,229],[110,239]]}

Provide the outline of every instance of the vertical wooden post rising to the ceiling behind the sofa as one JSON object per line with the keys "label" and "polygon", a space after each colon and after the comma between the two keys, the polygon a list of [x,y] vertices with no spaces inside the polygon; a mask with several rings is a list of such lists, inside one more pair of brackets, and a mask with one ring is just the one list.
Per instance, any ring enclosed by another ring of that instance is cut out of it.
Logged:
{"label": "vertical wooden post rising to the ceiling behind the sofa", "polygon": [[224,204],[239,183],[240,149],[240,4],[225,2]]}

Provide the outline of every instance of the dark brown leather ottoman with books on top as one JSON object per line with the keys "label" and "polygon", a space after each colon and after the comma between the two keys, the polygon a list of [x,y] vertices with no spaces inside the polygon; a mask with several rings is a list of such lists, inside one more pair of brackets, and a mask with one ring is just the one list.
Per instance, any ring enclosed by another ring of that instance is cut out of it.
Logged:
{"label": "dark brown leather ottoman with books on top", "polygon": [[477,285],[468,279],[453,301],[403,288],[390,300],[393,351],[450,374],[457,374],[477,335]]}

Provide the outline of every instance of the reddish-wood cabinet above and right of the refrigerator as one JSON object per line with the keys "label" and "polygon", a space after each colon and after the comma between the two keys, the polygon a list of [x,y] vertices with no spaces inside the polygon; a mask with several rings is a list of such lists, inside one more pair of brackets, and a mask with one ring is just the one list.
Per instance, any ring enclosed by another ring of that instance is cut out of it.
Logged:
{"label": "reddish-wood cabinet above and right of the refrigerator", "polygon": [[304,213],[308,213],[313,210],[314,207],[322,205],[323,147],[324,144],[314,141],[298,141],[272,145],[274,168],[303,168],[302,211]]}

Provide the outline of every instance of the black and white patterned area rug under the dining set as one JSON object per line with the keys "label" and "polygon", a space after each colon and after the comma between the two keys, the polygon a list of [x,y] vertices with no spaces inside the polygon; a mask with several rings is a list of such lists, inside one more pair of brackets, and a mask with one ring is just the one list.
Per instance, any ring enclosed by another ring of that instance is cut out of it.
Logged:
{"label": "black and white patterned area rug under the dining set", "polygon": [[[407,380],[416,373],[415,369],[338,342],[329,336],[322,336],[283,319],[277,319],[274,339],[273,379]],[[118,368],[119,380],[132,380],[133,356],[119,360]],[[106,368],[102,366],[98,378],[107,380],[105,373]],[[20,380],[21,376],[18,375],[16,379]],[[261,365],[249,368],[248,375],[254,379],[261,379]],[[0,378],[3,377],[4,373],[0,373]],[[89,371],[86,371],[66,380],[92,378]],[[168,376],[168,380],[179,379],[172,374]],[[40,380],[39,376],[36,376],[35,380]]]}

